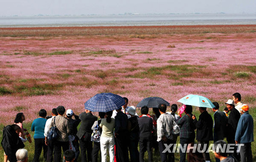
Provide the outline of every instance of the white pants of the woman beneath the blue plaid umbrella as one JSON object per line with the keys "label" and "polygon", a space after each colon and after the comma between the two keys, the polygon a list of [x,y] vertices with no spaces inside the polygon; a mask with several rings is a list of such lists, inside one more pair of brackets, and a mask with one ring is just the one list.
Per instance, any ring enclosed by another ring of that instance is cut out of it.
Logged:
{"label": "white pants of the woman beneath the blue plaid umbrella", "polygon": [[106,151],[109,148],[110,162],[114,162],[114,137],[100,137],[101,162],[106,162]]}

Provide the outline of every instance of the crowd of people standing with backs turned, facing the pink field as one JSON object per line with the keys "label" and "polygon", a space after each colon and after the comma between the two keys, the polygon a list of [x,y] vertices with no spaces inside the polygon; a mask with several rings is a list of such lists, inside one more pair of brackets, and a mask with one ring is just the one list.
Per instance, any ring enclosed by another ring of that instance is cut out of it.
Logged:
{"label": "crowd of people standing with backs turned, facing the pink field", "polygon": [[[48,162],[98,161],[100,151],[101,161],[144,161],[147,151],[148,161],[153,161],[153,154],[160,155],[161,161],[175,161],[174,144],[180,139],[179,158],[187,161],[210,161],[209,142],[214,141],[216,161],[252,161],[251,142],[253,142],[253,119],[249,114],[249,107],[241,102],[241,95],[234,93],[233,99],[225,102],[226,107],[220,110],[219,103],[213,102],[215,107],[214,120],[206,107],[199,107],[201,115],[193,115],[193,107],[185,105],[182,116],[178,106],[170,106],[167,112],[165,104],[153,107],[154,115],[148,114],[148,107],[140,109],[141,116],[136,113],[134,106],[127,106],[129,100],[123,97],[125,105],[110,112],[99,112],[96,117],[91,111],[85,110],[79,116],[63,106],[52,109],[47,117],[44,109],[39,111],[39,118],[31,126],[34,131],[34,157],[39,161],[41,151],[44,150],[44,160]],[[177,114],[176,114],[177,113]],[[25,115],[18,113],[14,124],[7,125],[3,130],[2,146],[5,151],[5,162],[28,161],[28,151],[24,143],[28,140],[27,129],[23,127]],[[77,129],[80,124],[79,129]],[[57,128],[57,139],[49,140],[47,134],[51,127]],[[179,127],[179,132],[174,128]],[[99,128],[99,140],[92,140],[93,130]],[[196,133],[195,133],[196,130]],[[223,141],[226,138],[226,141]],[[197,140],[197,144],[195,143]],[[200,145],[199,145],[200,144]],[[243,144],[233,147],[227,154],[223,148],[226,144]],[[138,149],[139,146],[139,149]],[[80,149],[79,149],[80,147]],[[203,151],[191,151],[198,150]],[[184,149],[186,151],[183,151]],[[196,149],[194,149],[196,148]],[[61,149],[64,152],[61,155]],[[186,158],[187,156],[187,158]],[[62,158],[63,157],[63,158]]]}

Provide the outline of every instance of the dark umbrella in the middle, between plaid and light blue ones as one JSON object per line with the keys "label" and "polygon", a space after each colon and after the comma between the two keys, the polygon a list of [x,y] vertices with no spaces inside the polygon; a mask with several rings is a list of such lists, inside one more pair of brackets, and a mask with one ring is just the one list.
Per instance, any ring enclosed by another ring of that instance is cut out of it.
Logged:
{"label": "dark umbrella in the middle, between plaid and light blue ones", "polygon": [[165,101],[164,99],[160,97],[148,97],[144,98],[142,101],[140,101],[136,107],[143,107],[147,106],[149,108],[157,107],[159,104],[166,104],[166,106],[169,106],[170,103]]}

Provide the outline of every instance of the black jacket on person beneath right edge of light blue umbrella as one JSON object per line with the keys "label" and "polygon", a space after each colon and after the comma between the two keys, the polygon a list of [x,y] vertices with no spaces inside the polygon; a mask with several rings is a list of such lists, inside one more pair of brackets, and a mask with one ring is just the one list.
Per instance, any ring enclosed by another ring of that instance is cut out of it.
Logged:
{"label": "black jacket on person beneath right edge of light blue umbrella", "polygon": [[211,116],[207,111],[203,112],[199,116],[199,120],[195,119],[194,124],[197,127],[197,141],[212,141],[214,140],[212,136],[212,126],[213,121]]}

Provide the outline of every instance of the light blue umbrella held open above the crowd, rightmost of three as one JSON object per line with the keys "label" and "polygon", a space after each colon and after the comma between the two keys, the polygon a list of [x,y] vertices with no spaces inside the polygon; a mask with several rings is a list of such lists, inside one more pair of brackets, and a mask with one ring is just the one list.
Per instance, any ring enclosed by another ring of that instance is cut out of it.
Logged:
{"label": "light blue umbrella held open above the crowd, rightmost of three", "polygon": [[208,108],[214,108],[215,105],[212,104],[212,102],[200,95],[186,95],[185,97],[182,97],[181,99],[178,100],[178,102],[181,102],[186,105],[191,105],[191,106],[198,106],[198,107],[208,107]]}

